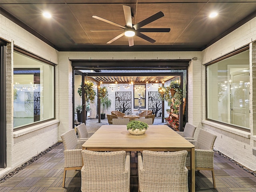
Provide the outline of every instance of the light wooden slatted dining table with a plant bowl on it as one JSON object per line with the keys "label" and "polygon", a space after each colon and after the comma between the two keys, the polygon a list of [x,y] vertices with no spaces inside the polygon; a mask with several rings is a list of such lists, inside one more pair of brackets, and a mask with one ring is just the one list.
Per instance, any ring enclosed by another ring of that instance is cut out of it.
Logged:
{"label": "light wooden slatted dining table with a plant bowl on it", "polygon": [[132,135],[126,125],[102,125],[83,145],[92,151],[180,151],[190,152],[191,191],[195,192],[195,146],[167,125],[149,125],[145,134]]}

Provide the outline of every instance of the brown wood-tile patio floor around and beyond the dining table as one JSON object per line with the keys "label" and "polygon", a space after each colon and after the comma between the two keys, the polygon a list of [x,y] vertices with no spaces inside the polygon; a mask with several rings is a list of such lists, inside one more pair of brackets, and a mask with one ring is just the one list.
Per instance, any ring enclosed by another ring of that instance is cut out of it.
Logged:
{"label": "brown wood-tile patio floor around and beyond the dining table", "polygon": [[[88,130],[97,130],[107,120],[86,120]],[[162,124],[159,118],[154,124]],[[80,171],[67,171],[65,188],[62,188],[64,154],[63,144],[56,146],[26,168],[0,182],[0,192],[80,192]],[[137,156],[131,154],[130,191],[138,190]],[[200,192],[256,192],[256,177],[227,158],[214,154],[214,173],[217,189],[213,188],[210,171],[196,171],[196,191]]]}

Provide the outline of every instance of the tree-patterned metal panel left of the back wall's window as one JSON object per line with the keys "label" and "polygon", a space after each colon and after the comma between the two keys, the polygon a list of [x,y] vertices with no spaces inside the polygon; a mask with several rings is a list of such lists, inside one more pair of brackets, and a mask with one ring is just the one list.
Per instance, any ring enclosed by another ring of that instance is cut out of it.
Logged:
{"label": "tree-patterned metal panel left of the back wall's window", "polygon": [[132,92],[116,92],[116,110],[126,115],[132,114]]}

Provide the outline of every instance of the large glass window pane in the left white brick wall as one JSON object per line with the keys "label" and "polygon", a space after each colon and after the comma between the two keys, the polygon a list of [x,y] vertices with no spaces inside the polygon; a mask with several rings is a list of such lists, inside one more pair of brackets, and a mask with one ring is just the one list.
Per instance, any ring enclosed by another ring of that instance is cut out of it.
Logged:
{"label": "large glass window pane in the left white brick wall", "polygon": [[54,118],[54,66],[14,52],[14,128]]}

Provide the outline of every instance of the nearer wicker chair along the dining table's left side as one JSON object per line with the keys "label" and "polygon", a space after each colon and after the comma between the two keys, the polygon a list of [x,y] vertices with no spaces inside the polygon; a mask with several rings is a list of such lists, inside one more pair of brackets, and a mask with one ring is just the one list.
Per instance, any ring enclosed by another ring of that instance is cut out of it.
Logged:
{"label": "nearer wicker chair along the dining table's left side", "polygon": [[64,145],[64,174],[62,187],[65,186],[66,171],[67,170],[80,170],[83,165],[82,158],[82,144],[86,142],[87,139],[78,140],[76,137],[76,132],[71,129],[64,134],[62,134],[61,139]]}

